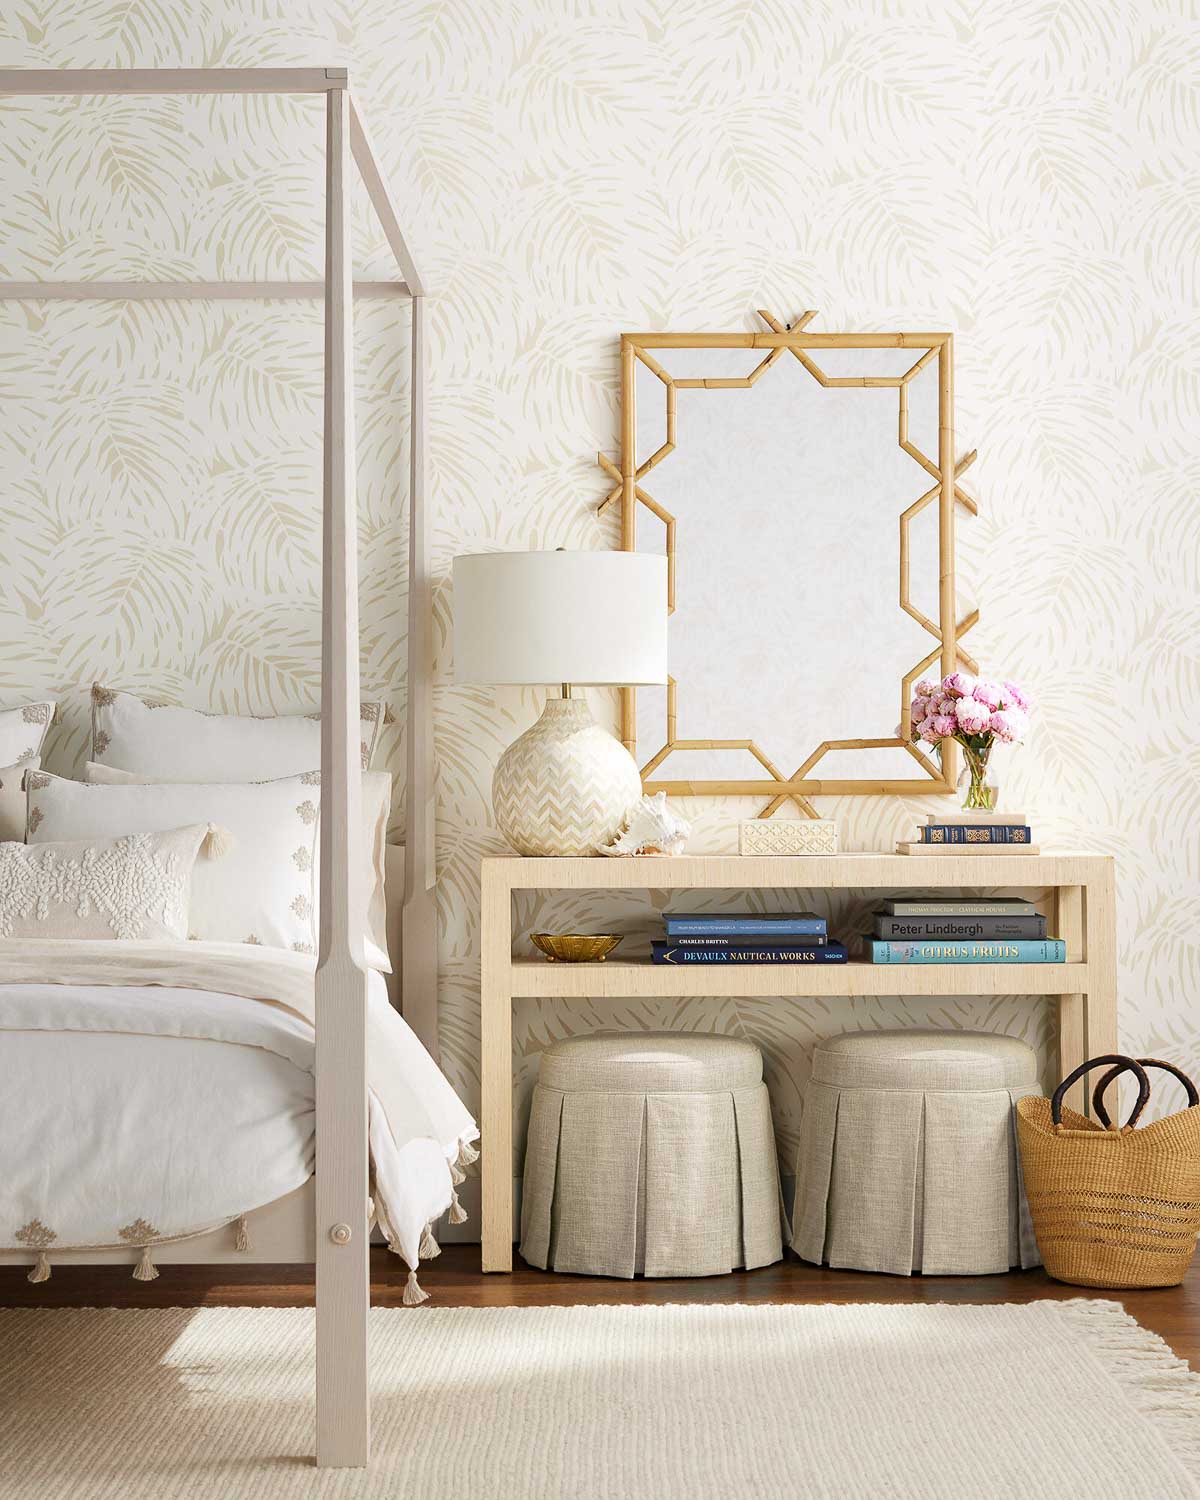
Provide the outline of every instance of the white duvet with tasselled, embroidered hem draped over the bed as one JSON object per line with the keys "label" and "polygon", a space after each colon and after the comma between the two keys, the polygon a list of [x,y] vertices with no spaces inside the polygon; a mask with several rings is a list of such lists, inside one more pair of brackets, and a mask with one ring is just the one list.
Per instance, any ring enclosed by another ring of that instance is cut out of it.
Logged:
{"label": "white duvet with tasselled, embroidered hem draped over the bed", "polygon": [[[478,1136],[370,974],[380,1224],[416,1269]],[[314,1172],[314,960],[244,944],[0,940],[0,1246],[228,1222]],[[254,1221],[250,1220],[250,1224]],[[52,1251],[51,1251],[52,1252]]]}

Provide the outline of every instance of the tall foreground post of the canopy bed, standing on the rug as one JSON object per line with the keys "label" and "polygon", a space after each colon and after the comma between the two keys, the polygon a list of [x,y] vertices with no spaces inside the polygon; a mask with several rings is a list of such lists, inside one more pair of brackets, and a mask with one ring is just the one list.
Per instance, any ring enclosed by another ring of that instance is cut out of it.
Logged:
{"label": "tall foreground post of the canopy bed, standing on the rug", "polygon": [[358,729],[358,528],[350,94],[326,132],[326,506],[321,622],[321,939],[316,958],[316,1462],[366,1464],[366,964]]}

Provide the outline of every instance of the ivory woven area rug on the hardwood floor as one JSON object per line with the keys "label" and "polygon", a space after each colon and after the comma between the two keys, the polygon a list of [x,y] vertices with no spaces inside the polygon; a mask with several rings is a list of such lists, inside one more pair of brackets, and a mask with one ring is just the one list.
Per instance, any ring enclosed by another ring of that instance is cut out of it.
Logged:
{"label": "ivory woven area rug on the hardwood floor", "polygon": [[1200,1494],[1200,1376],[1114,1302],[372,1312],[369,1473],[312,1466],[310,1311],[0,1312],[0,1496]]}

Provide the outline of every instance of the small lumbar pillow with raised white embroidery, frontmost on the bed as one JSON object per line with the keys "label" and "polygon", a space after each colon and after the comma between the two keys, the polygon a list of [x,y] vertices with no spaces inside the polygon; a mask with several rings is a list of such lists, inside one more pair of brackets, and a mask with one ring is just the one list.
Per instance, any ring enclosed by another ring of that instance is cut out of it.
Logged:
{"label": "small lumbar pillow with raised white embroidery, frontmost on the bed", "polygon": [[188,936],[204,824],[80,843],[0,843],[0,938]]}

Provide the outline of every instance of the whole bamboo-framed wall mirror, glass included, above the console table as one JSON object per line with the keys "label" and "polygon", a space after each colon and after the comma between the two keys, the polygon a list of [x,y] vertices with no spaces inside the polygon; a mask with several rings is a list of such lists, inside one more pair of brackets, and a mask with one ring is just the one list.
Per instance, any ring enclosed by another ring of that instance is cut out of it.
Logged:
{"label": "whole bamboo-framed wall mirror, glass included, above the console table", "polygon": [[[952,792],[952,744],[909,742],[914,682],[975,670],[954,580],[950,333],[621,338],[624,550],[664,552],[670,681],[624,688],[646,792]],[[897,734],[898,729],[898,734]]]}

